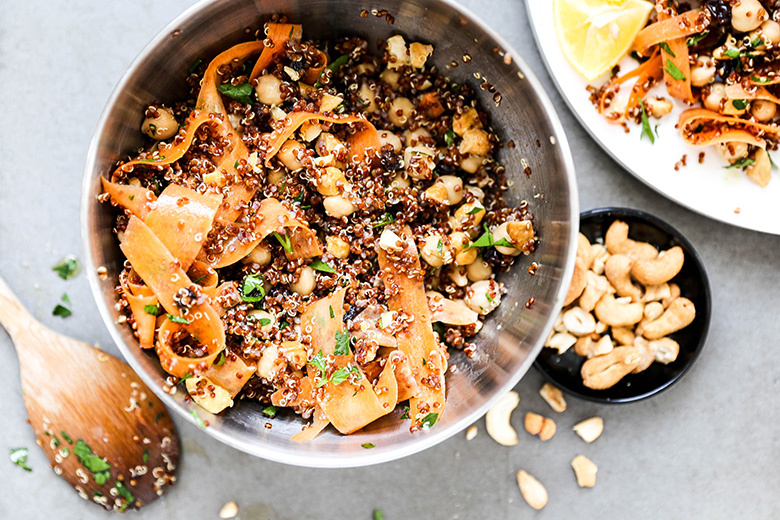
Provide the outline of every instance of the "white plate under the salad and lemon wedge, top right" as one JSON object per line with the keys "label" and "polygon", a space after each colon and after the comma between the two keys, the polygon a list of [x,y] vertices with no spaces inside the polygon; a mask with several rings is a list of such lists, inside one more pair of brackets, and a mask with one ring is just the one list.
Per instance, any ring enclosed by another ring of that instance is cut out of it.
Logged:
{"label": "white plate under the salad and lemon wedge, top right", "polygon": [[[686,108],[682,103],[660,121],[651,118],[653,126],[658,124],[655,144],[646,137],[639,139],[639,126],[630,124],[631,131],[625,133],[621,126],[607,123],[588,99],[588,82],[569,64],[558,45],[552,0],[525,3],[548,72],[574,115],[607,153],[645,184],[693,211],[734,226],[780,235],[780,172],[773,170],[772,181],[761,188],[741,169],[725,169],[714,147],[695,148],[683,143],[679,130],[674,128],[677,116]],[[620,62],[623,72],[636,65],[630,57]],[[601,85],[606,79],[607,75],[592,84]],[[656,89],[651,93],[669,98],[663,86]],[[702,164],[700,152],[705,152]],[[683,155],[687,155],[687,166],[675,171]],[[777,164],[779,155],[772,157]]]}

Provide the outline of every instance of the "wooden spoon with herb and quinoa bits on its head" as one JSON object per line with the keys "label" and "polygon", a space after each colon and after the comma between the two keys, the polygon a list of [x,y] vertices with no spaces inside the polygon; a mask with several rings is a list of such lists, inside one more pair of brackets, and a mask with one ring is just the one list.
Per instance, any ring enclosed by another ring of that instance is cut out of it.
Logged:
{"label": "wooden spoon with herb and quinoa bits on its head", "polygon": [[37,443],[82,498],[123,511],[174,483],[173,421],[126,363],[38,323],[2,278],[0,324],[16,346]]}

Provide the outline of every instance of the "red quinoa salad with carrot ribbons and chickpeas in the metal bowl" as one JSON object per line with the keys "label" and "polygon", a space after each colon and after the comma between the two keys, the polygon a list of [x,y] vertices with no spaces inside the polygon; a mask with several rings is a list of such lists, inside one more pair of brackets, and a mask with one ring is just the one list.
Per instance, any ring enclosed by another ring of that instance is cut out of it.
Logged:
{"label": "red quinoa salad with carrot ribbons and chickpeas in the metal bowl", "polygon": [[100,199],[127,259],[119,321],[169,389],[215,414],[290,409],[301,442],[445,413],[448,349],[479,349],[495,275],[538,237],[503,199],[494,154],[513,143],[433,51],[307,41],[277,16],[139,114],[145,144]]}

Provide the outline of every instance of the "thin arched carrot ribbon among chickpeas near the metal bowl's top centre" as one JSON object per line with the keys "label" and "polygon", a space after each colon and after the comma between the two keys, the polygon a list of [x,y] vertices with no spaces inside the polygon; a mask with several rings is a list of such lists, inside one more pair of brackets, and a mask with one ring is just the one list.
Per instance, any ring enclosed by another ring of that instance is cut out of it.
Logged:
{"label": "thin arched carrot ribbon among chickpeas near the metal bowl's top centre", "polygon": [[271,139],[268,141],[269,149],[265,156],[265,165],[270,166],[271,159],[273,159],[273,157],[279,153],[282,145],[287,142],[287,140],[295,133],[296,130],[298,130],[298,128],[303,123],[311,121],[312,119],[327,121],[329,123],[352,123],[363,125],[362,130],[359,130],[350,135],[348,139],[351,162],[362,162],[372,151],[374,153],[379,151],[379,133],[377,132],[376,128],[374,128],[374,125],[366,121],[364,118],[358,116],[329,116],[325,114],[318,114],[316,112],[300,111],[288,114],[287,118],[284,120],[284,128],[281,131],[275,130],[271,134]]}

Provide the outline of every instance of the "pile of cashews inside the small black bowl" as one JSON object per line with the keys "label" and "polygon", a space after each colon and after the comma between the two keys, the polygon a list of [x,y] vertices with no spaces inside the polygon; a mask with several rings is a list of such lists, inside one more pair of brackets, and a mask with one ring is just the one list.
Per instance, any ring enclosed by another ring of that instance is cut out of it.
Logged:
{"label": "pile of cashews inside the small black bowl", "polygon": [[545,342],[562,354],[588,358],[583,384],[612,387],[653,362],[677,359],[680,345],[668,335],[691,324],[696,308],[670,283],[683,267],[679,246],[659,251],[628,238],[628,224],[616,220],[604,244],[580,233],[574,276],[563,311]]}

